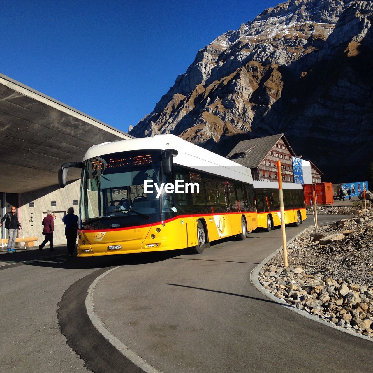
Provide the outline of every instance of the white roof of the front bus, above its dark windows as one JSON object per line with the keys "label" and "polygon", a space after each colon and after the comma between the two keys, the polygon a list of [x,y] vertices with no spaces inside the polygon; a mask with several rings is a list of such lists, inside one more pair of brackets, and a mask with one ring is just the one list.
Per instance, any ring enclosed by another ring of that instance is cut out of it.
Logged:
{"label": "white roof of the front bus, above its dark windows", "polygon": [[171,134],[93,145],[85,153],[83,161],[105,154],[141,149],[175,149],[178,151],[178,155],[173,157],[175,164],[253,184],[249,168]]}

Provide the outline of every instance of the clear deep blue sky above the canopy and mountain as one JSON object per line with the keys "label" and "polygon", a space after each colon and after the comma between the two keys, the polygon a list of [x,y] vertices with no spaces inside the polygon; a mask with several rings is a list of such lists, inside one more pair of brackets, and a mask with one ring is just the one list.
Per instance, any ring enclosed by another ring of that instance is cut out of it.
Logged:
{"label": "clear deep blue sky above the canopy and mountain", "polygon": [[0,1],[0,73],[122,131],[198,50],[282,1]]}

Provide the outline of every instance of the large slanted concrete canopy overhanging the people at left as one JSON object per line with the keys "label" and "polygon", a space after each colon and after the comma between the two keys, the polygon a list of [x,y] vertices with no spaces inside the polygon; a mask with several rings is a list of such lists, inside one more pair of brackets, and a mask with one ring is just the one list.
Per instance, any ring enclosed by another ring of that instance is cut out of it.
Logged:
{"label": "large slanted concrete canopy overhanging the people at left", "polygon": [[[0,192],[25,193],[58,183],[62,163],[92,145],[133,138],[0,74]],[[80,178],[70,168],[68,181]]]}

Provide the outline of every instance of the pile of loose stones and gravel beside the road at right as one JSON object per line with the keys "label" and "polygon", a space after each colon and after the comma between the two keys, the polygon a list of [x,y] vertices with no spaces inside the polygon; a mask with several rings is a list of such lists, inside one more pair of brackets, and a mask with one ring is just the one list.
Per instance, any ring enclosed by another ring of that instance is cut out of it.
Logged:
{"label": "pile of loose stones and gravel beside the road at right", "polygon": [[336,326],[373,338],[373,215],[308,229],[259,273],[275,297]]}

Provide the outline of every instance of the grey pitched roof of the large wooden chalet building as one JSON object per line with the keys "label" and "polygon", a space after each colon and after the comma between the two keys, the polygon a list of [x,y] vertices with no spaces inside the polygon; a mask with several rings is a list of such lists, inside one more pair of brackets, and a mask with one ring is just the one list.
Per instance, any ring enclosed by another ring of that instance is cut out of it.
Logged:
{"label": "grey pitched roof of the large wooden chalet building", "polygon": [[257,168],[277,142],[282,138],[292,156],[296,156],[284,134],[258,137],[251,140],[240,141],[228,154],[231,159],[235,154],[244,153],[244,158],[232,159],[234,162],[249,168]]}

